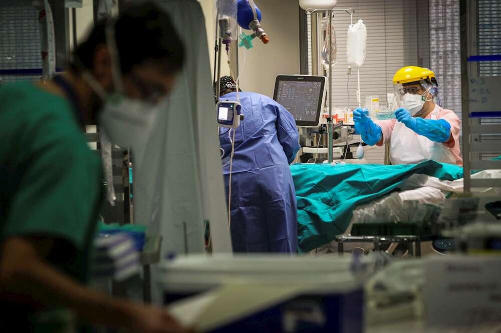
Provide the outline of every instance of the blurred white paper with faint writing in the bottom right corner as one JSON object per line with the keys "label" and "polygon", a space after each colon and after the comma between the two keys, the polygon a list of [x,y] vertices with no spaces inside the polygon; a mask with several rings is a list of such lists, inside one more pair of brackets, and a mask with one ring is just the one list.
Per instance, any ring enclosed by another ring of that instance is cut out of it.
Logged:
{"label": "blurred white paper with faint writing in the bottom right corner", "polygon": [[501,323],[501,258],[450,256],[429,260],[424,268],[428,325]]}

